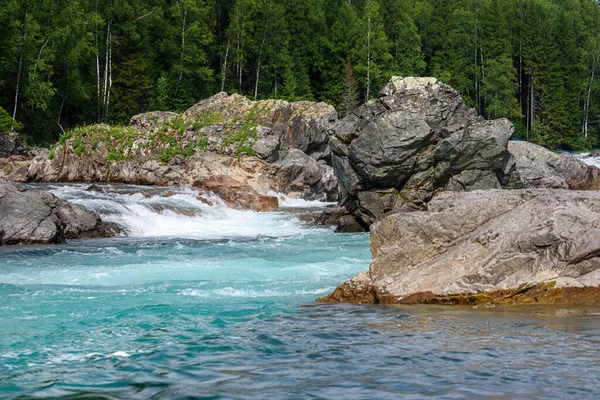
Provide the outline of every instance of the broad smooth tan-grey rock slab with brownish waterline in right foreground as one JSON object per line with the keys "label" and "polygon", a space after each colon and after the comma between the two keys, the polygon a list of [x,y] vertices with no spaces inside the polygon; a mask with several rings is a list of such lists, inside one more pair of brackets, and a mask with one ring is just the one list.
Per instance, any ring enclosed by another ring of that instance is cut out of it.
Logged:
{"label": "broad smooth tan-grey rock slab with brownish waterline in right foreground", "polygon": [[325,300],[464,304],[496,294],[553,304],[565,288],[571,303],[573,293],[600,300],[600,192],[444,192],[371,235],[370,271]]}

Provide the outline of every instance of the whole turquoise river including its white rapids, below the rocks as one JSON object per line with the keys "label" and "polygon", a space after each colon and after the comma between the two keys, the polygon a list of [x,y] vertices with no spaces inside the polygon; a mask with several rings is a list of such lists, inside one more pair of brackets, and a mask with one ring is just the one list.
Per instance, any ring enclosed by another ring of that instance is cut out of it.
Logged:
{"label": "whole turquoise river including its white rapids, below the rocks", "polygon": [[600,395],[600,310],[318,304],[368,235],[185,188],[50,188],[130,236],[0,248],[2,398]]}

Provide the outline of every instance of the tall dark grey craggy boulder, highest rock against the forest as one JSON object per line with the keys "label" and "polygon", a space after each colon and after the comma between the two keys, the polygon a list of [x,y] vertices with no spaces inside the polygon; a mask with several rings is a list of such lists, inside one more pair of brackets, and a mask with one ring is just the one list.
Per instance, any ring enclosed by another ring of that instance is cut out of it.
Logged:
{"label": "tall dark grey craggy boulder, highest rock against the forest", "polygon": [[506,119],[485,121],[434,78],[394,77],[333,127],[344,205],[363,225],[421,209],[439,190],[499,188],[510,172]]}

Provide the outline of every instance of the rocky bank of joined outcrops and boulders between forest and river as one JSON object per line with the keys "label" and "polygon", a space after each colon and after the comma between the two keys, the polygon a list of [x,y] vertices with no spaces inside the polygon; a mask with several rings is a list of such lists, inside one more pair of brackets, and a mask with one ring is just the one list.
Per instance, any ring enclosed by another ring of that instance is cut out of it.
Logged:
{"label": "rocky bank of joined outcrops and boulders between forest and river", "polygon": [[337,200],[318,221],[370,230],[373,261],[323,301],[597,304],[600,170],[513,131],[436,79],[395,77],[343,119],[220,93],[182,115],[69,132],[0,160],[0,176],[189,184],[256,211],[277,209],[271,191]]}

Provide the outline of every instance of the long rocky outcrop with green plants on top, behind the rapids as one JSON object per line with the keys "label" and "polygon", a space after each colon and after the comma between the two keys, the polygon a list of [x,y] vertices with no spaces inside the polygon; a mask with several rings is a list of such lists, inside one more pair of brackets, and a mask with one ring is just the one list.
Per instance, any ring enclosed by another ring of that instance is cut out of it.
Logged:
{"label": "long rocky outcrop with green plants on top, behind the rapids", "polygon": [[151,112],[134,116],[129,127],[74,130],[33,159],[1,161],[0,178],[174,185],[227,176],[250,194],[335,201],[328,131],[336,118],[324,103],[220,93],[181,116]]}

